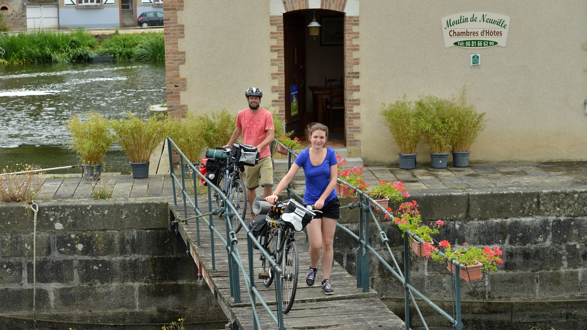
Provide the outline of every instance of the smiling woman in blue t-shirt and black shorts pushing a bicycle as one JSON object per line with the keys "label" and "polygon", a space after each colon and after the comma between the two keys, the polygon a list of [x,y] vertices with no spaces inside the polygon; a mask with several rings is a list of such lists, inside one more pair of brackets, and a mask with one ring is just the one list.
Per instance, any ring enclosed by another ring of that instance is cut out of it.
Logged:
{"label": "smiling woman in blue t-shirt and black shorts pushing a bicycle", "polygon": [[332,269],[332,241],[336,230],[336,221],[340,218],[340,202],[336,197],[336,153],[332,148],[325,147],[328,139],[328,127],[320,123],[311,123],[306,128],[311,147],[303,150],[288,174],[275,188],[274,194],[265,197],[269,203],[275,204],[278,194],[294,179],[300,167],[306,179],[306,190],[303,202],[312,204],[322,214],[316,214],[308,224],[308,238],[310,241],[310,269],[306,273],[306,285],[312,287],[318,271],[318,260],[322,250],[322,291],[331,295],[334,293],[329,277]]}

